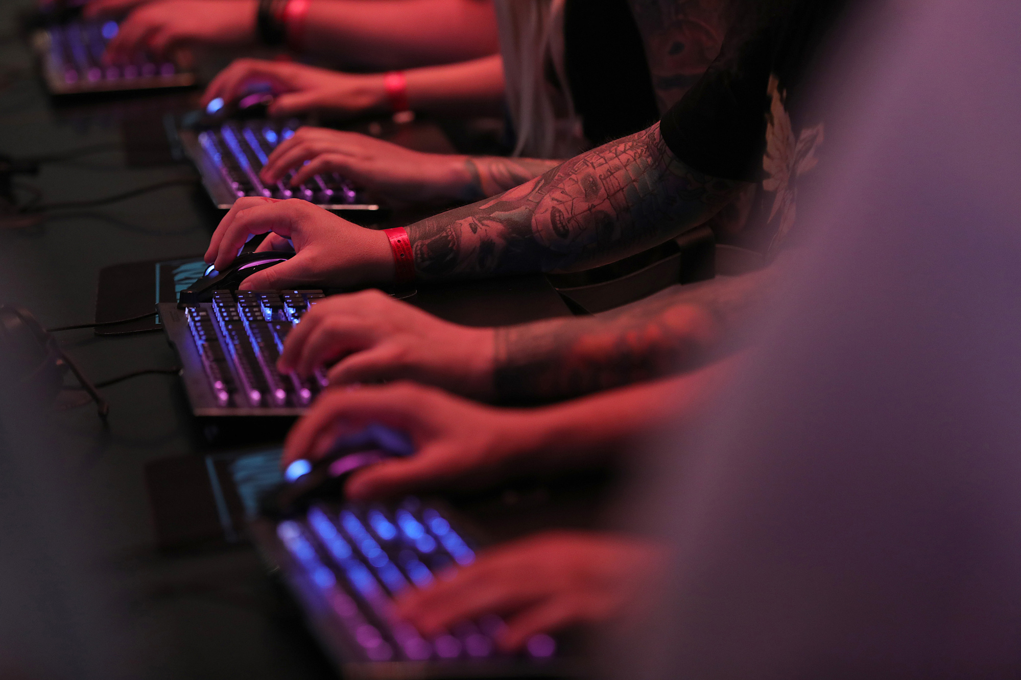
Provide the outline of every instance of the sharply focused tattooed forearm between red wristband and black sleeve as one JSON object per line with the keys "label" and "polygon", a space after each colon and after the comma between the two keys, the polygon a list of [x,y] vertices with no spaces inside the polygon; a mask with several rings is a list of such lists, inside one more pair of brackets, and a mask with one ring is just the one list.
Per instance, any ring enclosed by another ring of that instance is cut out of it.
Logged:
{"label": "sharply focused tattooed forearm between red wristband and black sleeve", "polygon": [[697,226],[739,186],[697,172],[657,123],[490,199],[407,227],[424,278],[572,271]]}

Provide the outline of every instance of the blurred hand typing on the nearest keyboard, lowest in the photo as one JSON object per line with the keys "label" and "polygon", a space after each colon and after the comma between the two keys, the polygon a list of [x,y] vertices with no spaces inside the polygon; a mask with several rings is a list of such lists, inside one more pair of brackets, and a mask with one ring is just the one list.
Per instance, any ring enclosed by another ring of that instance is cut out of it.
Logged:
{"label": "blurred hand typing on the nearest keyboard, lowest in the photo", "polygon": [[637,538],[547,531],[489,548],[423,590],[409,588],[397,600],[397,615],[430,636],[500,614],[506,627],[496,643],[513,651],[539,633],[618,621],[635,608],[662,562],[660,547]]}

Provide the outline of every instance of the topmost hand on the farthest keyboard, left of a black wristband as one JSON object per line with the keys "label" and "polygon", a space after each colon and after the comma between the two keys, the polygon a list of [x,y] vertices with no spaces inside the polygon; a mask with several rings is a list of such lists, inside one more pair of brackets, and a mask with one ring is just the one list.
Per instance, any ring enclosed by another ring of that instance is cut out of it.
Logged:
{"label": "topmost hand on the farthest keyboard, left of a black wristband", "polygon": [[130,63],[139,52],[165,59],[191,44],[244,45],[255,36],[255,0],[158,0],[139,7],[106,45],[103,61]]}

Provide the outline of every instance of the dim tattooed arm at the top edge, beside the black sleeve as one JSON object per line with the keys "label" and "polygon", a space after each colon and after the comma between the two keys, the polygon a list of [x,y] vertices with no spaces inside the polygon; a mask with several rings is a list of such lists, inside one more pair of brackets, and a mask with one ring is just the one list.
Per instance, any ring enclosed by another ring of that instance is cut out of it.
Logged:
{"label": "dim tattooed arm at the top edge, beside the black sleeve", "polygon": [[630,0],[660,112],[678,102],[720,52],[726,0]]}

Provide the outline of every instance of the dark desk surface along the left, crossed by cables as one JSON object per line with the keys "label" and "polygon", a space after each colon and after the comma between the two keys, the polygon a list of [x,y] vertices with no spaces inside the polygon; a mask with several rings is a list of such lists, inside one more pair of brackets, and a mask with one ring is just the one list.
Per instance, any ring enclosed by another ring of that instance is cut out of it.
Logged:
{"label": "dark desk surface along the left, crossed by cables", "polygon": [[[0,33],[9,35],[14,10],[31,2],[2,4]],[[106,196],[190,171],[176,165],[128,167],[121,149],[126,120],[146,115],[151,119],[154,109],[181,106],[180,95],[56,108],[42,91],[25,44],[4,40],[0,55],[4,77],[13,79],[0,82],[0,153],[25,157],[95,144],[114,147],[48,163],[38,177],[26,177],[27,184],[42,190],[45,200]],[[171,187],[94,210],[65,211],[31,228],[0,229],[0,302],[28,307],[47,326],[88,322],[102,267],[202,252],[215,221],[199,190]],[[429,300],[424,306],[432,305],[439,313],[451,304],[441,296]],[[94,380],[177,363],[158,332],[96,337],[81,330],[62,333],[61,342]],[[54,464],[74,473],[78,505],[71,505],[71,512],[88,515],[90,525],[101,527],[94,541],[99,574],[115,586],[123,630],[136,638],[117,642],[138,651],[128,676],[334,677],[293,613],[281,604],[252,550],[177,556],[156,550],[145,464],[213,451],[196,435],[178,379],[148,375],[103,391],[111,407],[106,427],[91,407],[52,419],[61,448]],[[587,491],[567,491],[568,496],[572,493]],[[545,494],[503,491],[478,501],[478,515],[505,516],[510,508],[512,521],[501,531],[510,535],[548,521],[548,511],[542,510],[548,505]],[[560,525],[585,521],[583,515],[568,511],[557,518]]]}

